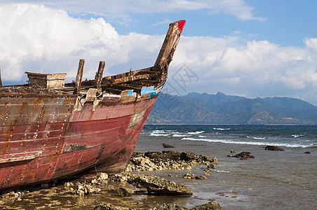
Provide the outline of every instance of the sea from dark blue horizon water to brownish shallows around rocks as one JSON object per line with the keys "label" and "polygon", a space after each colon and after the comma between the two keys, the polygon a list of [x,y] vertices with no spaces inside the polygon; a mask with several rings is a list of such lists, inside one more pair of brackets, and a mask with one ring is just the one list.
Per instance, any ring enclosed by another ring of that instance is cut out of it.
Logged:
{"label": "sea from dark blue horizon water to brownish shallows around rocks", "polygon": [[[162,144],[175,148],[163,148]],[[284,151],[267,151],[268,145]],[[181,170],[146,172],[182,183],[194,195],[148,196],[140,201],[187,208],[215,200],[224,209],[317,209],[317,126],[144,126],[135,151],[170,150],[208,155],[217,158],[219,164],[203,180],[183,179],[187,171]],[[227,157],[243,151],[255,158]],[[188,172],[202,176],[205,168],[198,165]]]}

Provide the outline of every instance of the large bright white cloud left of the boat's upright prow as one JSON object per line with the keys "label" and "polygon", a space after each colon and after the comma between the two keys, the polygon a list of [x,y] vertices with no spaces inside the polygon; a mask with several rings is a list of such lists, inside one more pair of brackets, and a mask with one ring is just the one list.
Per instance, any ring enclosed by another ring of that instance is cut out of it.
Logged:
{"label": "large bright white cloud left of the boat's upright prow", "polygon": [[0,31],[3,80],[20,80],[23,71],[74,76],[80,58],[86,59],[88,78],[93,78],[100,60],[106,60],[108,73],[118,73],[116,68],[130,59],[154,63],[163,41],[163,36],[122,36],[102,18],[74,19],[65,11],[29,4],[0,6]]}

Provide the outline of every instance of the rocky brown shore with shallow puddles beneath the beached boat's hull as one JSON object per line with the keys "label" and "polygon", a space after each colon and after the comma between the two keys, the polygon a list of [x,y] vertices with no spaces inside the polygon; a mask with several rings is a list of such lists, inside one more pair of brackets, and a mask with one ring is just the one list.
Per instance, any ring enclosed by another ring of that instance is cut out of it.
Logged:
{"label": "rocky brown shore with shallow puddles beneath the beached boat's hull", "polygon": [[[81,200],[83,206],[88,209],[187,209],[175,204],[149,205],[135,202],[133,197],[137,195],[190,196],[193,194],[187,186],[182,184],[158,176],[136,173],[167,169],[191,170],[194,165],[205,165],[204,176],[195,176],[187,172],[183,178],[208,179],[208,172],[217,163],[217,158],[191,152],[137,152],[133,153],[126,172],[121,174],[90,174],[81,179],[52,181],[40,186],[2,192],[0,209],[24,209],[25,207],[27,209],[76,209],[74,207],[76,200]],[[104,200],[101,202],[97,196],[106,197],[107,202]],[[131,199],[126,200],[125,197],[131,197]],[[193,209],[222,209],[222,207],[217,202],[211,201]]]}

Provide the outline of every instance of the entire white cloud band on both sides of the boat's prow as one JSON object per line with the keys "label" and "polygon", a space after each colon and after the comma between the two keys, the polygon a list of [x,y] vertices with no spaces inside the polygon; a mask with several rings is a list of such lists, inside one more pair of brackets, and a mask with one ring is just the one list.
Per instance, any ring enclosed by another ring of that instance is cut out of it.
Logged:
{"label": "entire white cloud band on both sides of the boat's prow", "polygon": [[[74,77],[81,58],[86,59],[84,78],[95,76],[100,60],[106,61],[108,75],[152,66],[164,38],[121,35],[102,18],[81,20],[29,4],[0,5],[0,31],[4,81],[21,80],[24,71]],[[238,35],[182,36],[170,75],[187,64],[199,78],[188,92],[300,97],[317,104],[317,38],[305,38],[306,47],[295,48]]]}

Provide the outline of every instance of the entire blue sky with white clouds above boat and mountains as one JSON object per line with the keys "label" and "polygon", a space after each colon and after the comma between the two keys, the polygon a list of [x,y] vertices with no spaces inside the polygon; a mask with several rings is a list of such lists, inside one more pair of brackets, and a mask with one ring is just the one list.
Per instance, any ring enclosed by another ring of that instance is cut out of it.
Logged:
{"label": "entire blue sky with white clouds above boat and mountains", "polygon": [[168,24],[187,20],[163,92],[294,97],[317,106],[315,0],[0,0],[4,85],[25,71],[74,80],[153,66]]}

